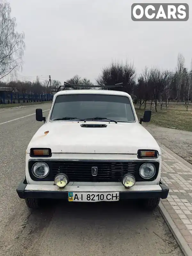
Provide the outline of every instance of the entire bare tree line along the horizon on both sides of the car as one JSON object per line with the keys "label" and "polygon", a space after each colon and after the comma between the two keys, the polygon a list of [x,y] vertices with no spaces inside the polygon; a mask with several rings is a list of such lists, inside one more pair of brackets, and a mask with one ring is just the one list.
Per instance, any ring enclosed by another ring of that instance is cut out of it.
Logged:
{"label": "entire bare tree line along the horizon on both sides of the car", "polygon": [[[123,83],[125,91],[128,92],[135,104],[144,106],[150,102],[151,108],[154,104],[157,112],[157,105],[160,108],[166,106],[170,101],[183,102],[186,110],[192,97],[192,62],[191,68],[185,67],[185,59],[182,54],[178,55],[176,70],[163,70],[160,68],[145,67],[142,73],[137,77],[136,69],[132,63],[112,62],[108,67],[104,67],[101,74],[95,79],[95,84],[87,78],[81,78],[78,75],[66,80],[69,84],[75,84],[75,89],[81,89],[81,85],[100,85],[108,86]],[[11,81],[9,83],[0,83],[0,87],[17,88],[20,93],[51,93],[57,91],[61,82],[52,80],[51,86],[48,80],[40,83],[38,77],[36,81]],[[90,89],[87,87],[86,89]],[[114,90],[114,88],[113,88]],[[119,90],[116,89],[116,90]]]}

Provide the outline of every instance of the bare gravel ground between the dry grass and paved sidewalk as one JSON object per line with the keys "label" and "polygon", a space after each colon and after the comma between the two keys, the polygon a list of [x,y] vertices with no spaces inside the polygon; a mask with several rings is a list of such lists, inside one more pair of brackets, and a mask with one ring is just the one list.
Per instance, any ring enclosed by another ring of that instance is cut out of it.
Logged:
{"label": "bare gravel ground between the dry grass and paved sidewalk", "polygon": [[175,154],[192,164],[192,132],[142,124],[152,136]]}

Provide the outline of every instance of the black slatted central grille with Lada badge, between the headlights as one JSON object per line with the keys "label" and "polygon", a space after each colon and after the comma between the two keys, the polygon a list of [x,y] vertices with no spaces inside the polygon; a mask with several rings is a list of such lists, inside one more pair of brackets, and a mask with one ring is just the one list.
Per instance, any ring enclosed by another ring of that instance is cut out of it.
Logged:
{"label": "black slatted central grille with Lada badge, between the headlights", "polygon": [[[68,175],[70,181],[118,182],[124,174],[135,174],[136,163],[94,161],[52,161],[52,179],[58,173]],[[92,167],[97,167],[97,176],[92,176]]]}

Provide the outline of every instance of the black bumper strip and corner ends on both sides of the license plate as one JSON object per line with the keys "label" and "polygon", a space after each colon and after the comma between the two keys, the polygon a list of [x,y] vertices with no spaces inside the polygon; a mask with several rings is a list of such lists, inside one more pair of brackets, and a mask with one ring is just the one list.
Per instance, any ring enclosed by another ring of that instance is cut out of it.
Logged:
{"label": "black bumper strip and corner ends on both sides of the license plate", "polygon": [[[127,191],[120,192],[121,199],[143,199],[143,198],[162,198],[165,199],[168,196],[169,188],[162,182],[159,183],[162,191]],[[26,179],[21,181],[18,188],[17,194],[20,198],[50,198],[50,199],[65,199],[68,201],[68,191],[30,191],[25,190],[27,186]]]}

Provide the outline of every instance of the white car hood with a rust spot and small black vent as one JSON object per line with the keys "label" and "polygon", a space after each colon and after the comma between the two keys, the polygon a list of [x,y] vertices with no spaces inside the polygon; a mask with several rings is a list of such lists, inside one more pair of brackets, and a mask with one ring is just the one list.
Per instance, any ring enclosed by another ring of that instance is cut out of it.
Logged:
{"label": "white car hood with a rust spot and small black vent", "polygon": [[[105,128],[81,124],[107,124]],[[45,132],[47,132],[45,134]],[[30,141],[30,148],[51,148],[52,153],[137,154],[138,149],[161,150],[152,135],[139,123],[47,122]]]}

